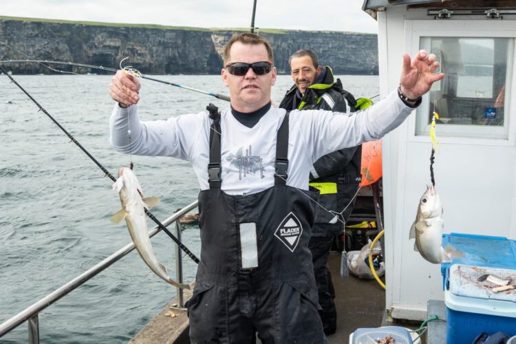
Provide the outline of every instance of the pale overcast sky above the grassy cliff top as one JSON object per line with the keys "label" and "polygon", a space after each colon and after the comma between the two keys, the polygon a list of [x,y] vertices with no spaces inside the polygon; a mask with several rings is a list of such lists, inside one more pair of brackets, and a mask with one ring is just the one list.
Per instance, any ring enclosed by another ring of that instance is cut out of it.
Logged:
{"label": "pale overcast sky above the grassy cliff top", "polygon": [[[253,0],[1,0],[0,16],[248,28]],[[363,0],[257,0],[255,27],[377,32]]]}

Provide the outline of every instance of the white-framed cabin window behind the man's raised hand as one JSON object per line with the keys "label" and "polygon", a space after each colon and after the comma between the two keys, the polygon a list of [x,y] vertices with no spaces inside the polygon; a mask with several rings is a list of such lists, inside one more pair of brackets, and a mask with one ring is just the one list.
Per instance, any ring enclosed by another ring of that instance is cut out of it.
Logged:
{"label": "white-framed cabin window behind the man's raised hand", "polygon": [[440,136],[508,139],[514,39],[420,37],[446,76],[418,108],[416,136],[428,135],[433,112]]}

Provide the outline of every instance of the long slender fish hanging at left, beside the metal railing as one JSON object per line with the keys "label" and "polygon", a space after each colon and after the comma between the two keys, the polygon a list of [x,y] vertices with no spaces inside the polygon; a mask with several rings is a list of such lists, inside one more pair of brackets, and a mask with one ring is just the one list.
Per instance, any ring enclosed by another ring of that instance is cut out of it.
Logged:
{"label": "long slender fish hanging at left, beside the metal railing", "polygon": [[111,222],[119,224],[125,219],[131,239],[133,239],[136,250],[140,253],[143,261],[153,272],[178,288],[190,289],[187,284],[174,281],[167,275],[166,268],[162,266],[154,255],[151,245],[151,239],[147,232],[147,217],[145,217],[145,208],[149,209],[158,204],[158,197],[143,198],[140,182],[136,178],[134,172],[128,167],[120,168],[118,171],[118,180],[113,184],[113,189],[118,191],[120,202],[122,202],[122,210],[118,211]]}

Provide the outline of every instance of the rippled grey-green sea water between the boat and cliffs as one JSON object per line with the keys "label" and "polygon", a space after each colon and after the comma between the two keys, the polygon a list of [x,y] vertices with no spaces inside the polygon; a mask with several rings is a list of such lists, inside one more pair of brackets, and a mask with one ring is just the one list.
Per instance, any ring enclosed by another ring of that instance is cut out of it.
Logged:
{"label": "rippled grey-green sea water between the boat and cliffs", "polygon": [[[220,76],[153,76],[179,85],[228,95]],[[338,76],[357,98],[378,94],[378,76]],[[114,102],[108,75],[14,76],[100,164],[116,177],[133,162],[145,197],[160,197],[152,209],[160,220],[197,200],[199,184],[188,162],[121,154],[109,145]],[[272,102],[279,105],[292,85],[278,76]],[[0,323],[74,279],[131,241],[125,222],[112,224],[120,209],[113,182],[54,122],[0,75]],[[179,87],[142,80],[142,120],[197,113],[228,103]],[[378,100],[376,98],[375,100]],[[194,212],[197,212],[195,210]],[[155,224],[149,219],[149,228]],[[172,228],[172,226],[171,226]],[[175,277],[173,241],[153,237],[155,255]],[[182,241],[200,257],[199,228],[185,226]],[[183,254],[184,281],[197,264]],[[83,286],[39,314],[41,343],[127,343],[175,297],[133,250]],[[26,343],[28,325],[0,338]]]}

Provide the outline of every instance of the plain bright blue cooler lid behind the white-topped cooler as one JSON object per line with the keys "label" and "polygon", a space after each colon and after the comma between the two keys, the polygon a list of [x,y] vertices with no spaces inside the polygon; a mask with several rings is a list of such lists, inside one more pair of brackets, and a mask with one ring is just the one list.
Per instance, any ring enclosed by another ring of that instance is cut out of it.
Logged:
{"label": "plain bright blue cooler lid behind the white-topped cooler", "polygon": [[467,255],[453,259],[451,263],[441,264],[441,273],[444,278],[446,278],[446,270],[451,264],[516,270],[516,241],[514,240],[506,237],[450,233],[442,235],[442,247],[446,247],[447,244],[451,244]]}

